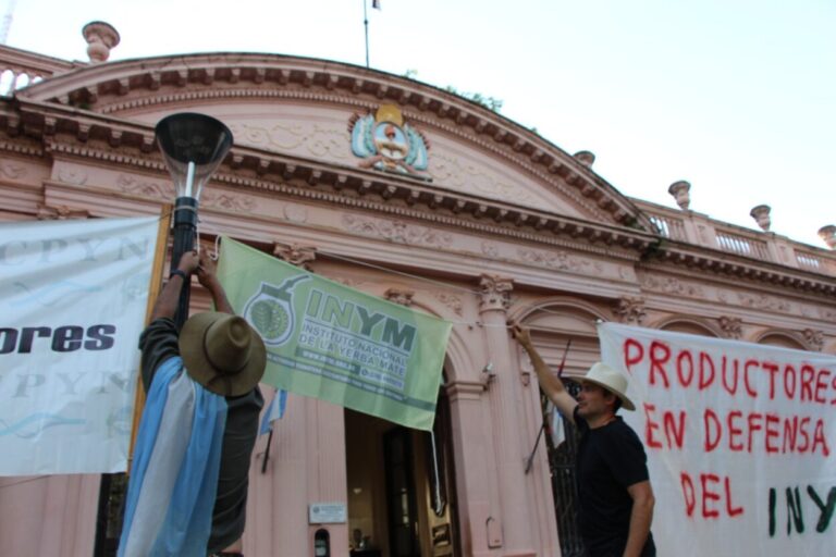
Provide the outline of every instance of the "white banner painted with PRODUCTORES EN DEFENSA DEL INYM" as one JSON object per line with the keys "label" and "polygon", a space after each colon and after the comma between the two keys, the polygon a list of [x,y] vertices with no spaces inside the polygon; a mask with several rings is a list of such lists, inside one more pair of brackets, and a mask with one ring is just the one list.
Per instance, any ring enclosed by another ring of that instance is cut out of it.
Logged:
{"label": "white banner painted with PRODUCTORES EN DEFENSA DEL INYM", "polygon": [[[833,555],[836,357],[599,325],[648,453],[659,555]],[[829,418],[829,420],[828,420]]]}

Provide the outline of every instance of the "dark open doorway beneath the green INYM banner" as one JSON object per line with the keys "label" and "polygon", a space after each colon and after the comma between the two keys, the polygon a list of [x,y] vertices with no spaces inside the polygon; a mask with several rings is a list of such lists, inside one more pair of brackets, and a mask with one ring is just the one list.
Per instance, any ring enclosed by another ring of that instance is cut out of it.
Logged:
{"label": "dark open doorway beneath the green INYM banner", "polygon": [[450,403],[433,435],[345,410],[352,557],[460,557]]}

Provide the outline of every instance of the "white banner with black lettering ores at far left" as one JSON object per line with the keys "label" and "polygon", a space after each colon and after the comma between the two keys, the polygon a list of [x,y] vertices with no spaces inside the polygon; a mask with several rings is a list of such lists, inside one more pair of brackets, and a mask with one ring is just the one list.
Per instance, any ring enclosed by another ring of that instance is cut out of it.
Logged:
{"label": "white banner with black lettering ores at far left", "polygon": [[125,470],[158,222],[0,224],[0,475]]}

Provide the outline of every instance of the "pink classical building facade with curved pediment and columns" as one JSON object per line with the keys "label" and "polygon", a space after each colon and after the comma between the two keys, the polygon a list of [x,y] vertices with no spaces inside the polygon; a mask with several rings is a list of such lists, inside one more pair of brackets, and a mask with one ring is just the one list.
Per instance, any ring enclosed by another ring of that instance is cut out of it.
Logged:
{"label": "pink classical building facade with curved pediment and columns", "polygon": [[[201,112],[235,136],[201,197],[206,242],[226,234],[455,324],[438,473],[426,433],[291,395],[269,458],[256,445],[246,555],[317,555],[321,530],[334,557],[355,530],[355,555],[570,555],[560,456],[541,442],[526,471],[541,404],[511,319],[550,363],[571,339],[574,372],[599,359],[598,320],[836,352],[836,257],[767,232],[769,208],[755,232],[689,210],[687,183],[671,186],[679,209],[625,197],[591,153],[419,82],[272,54],[0,61],[0,221],[159,214],[174,195],[153,126]],[[193,310],[208,304],[194,292]],[[101,485],[0,479],[0,553],[104,555]],[[312,519],[325,503],[345,520]]]}

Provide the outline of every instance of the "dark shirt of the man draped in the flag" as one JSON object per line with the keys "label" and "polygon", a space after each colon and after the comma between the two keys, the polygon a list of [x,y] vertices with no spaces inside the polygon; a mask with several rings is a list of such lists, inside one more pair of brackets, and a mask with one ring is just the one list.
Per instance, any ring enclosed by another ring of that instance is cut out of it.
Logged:
{"label": "dark shirt of the man draped in the flag", "polygon": [[[151,385],[157,369],[180,356],[177,330],[171,319],[153,321],[139,337],[143,351],[143,385]],[[221,446],[218,494],[212,509],[212,532],[208,552],[220,552],[244,533],[249,485],[249,460],[258,435],[258,414],[265,399],[256,387],[246,395],[226,397],[226,426]]]}

